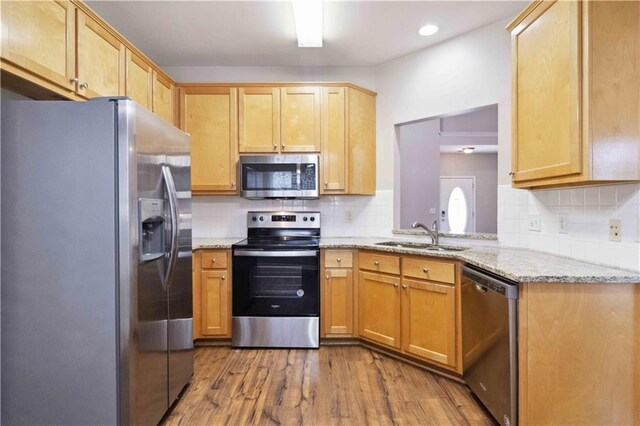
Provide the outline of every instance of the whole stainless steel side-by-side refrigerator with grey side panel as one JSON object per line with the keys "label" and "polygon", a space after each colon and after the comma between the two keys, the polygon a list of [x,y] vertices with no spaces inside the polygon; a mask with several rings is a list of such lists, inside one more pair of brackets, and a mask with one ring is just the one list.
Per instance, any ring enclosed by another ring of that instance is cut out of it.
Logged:
{"label": "whole stainless steel side-by-side refrigerator with grey side panel", "polygon": [[2,423],[158,423],[193,374],[189,136],[123,98],[1,114]]}

